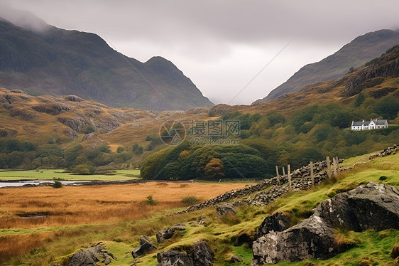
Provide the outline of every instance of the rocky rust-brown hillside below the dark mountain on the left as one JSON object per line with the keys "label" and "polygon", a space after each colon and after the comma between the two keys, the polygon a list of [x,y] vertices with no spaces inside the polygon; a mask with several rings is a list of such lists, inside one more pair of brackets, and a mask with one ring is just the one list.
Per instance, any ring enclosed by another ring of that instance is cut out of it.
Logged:
{"label": "rocky rust-brown hillside below the dark mountain on the left", "polygon": [[[37,143],[53,139],[58,143],[80,142],[89,147],[145,142],[148,135],[158,134],[168,119],[187,122],[204,119],[207,109],[188,111],[143,111],[112,108],[98,102],[69,95],[31,96],[23,90],[0,88],[0,137],[16,137]],[[92,127],[92,133],[85,134]]]}

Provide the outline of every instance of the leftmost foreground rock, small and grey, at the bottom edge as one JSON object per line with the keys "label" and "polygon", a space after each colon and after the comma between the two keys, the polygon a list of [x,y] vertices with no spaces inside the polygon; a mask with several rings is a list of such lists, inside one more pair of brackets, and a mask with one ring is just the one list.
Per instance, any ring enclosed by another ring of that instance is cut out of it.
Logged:
{"label": "leftmost foreground rock, small and grey, at the bottom edge", "polygon": [[[100,260],[101,257],[102,260]],[[105,265],[109,265],[111,258],[116,260],[116,257],[99,243],[94,247],[76,252],[72,255],[68,266],[96,266],[96,262],[100,261]]]}

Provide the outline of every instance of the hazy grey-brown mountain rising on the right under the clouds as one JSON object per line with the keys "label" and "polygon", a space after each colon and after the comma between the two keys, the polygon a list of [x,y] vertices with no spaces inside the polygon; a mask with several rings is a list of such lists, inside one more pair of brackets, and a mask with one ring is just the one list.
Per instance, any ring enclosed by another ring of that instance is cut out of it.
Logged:
{"label": "hazy grey-brown mountain rising on the right under the clouds", "polygon": [[398,43],[399,31],[380,30],[366,33],[355,38],[333,55],[317,63],[305,65],[285,83],[256,102],[273,100],[285,93],[298,92],[307,85],[339,78],[348,73],[350,68],[361,67]]}

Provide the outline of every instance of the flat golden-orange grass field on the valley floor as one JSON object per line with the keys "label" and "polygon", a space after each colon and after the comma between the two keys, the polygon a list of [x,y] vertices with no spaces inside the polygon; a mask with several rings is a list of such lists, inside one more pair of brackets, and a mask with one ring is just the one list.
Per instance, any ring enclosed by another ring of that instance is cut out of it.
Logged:
{"label": "flat golden-orange grass field on the valley floor", "polygon": [[[154,211],[182,208],[182,198],[207,200],[247,183],[168,183],[149,182],[111,186],[65,186],[63,188],[1,189],[0,228],[108,223],[127,218],[148,218]],[[152,195],[158,205],[143,201]],[[19,215],[19,216],[18,216]],[[20,217],[32,216],[32,217]]]}

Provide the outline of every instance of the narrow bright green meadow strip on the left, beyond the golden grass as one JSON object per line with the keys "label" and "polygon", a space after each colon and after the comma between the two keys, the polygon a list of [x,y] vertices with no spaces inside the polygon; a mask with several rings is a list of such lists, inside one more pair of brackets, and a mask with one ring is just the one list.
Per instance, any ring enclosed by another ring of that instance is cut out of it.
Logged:
{"label": "narrow bright green meadow strip on the left, beyond the golden grass", "polygon": [[116,170],[112,174],[94,174],[94,175],[77,175],[66,173],[62,169],[40,169],[28,171],[0,171],[1,180],[18,180],[18,179],[38,179],[38,180],[52,180],[63,179],[72,181],[88,181],[88,180],[129,180],[139,179],[140,169],[132,170]]}

